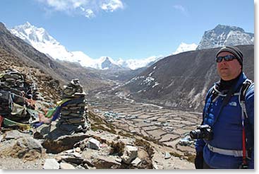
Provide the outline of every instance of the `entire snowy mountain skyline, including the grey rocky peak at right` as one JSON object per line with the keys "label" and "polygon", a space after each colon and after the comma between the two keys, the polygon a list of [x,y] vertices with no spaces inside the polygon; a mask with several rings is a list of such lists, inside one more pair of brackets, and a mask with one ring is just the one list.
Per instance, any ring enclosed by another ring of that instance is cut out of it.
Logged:
{"label": "entire snowy mountain skyline, including the grey rocky peak at right", "polygon": [[[10,29],[13,35],[20,37],[35,47],[40,52],[47,54],[48,57],[59,59],[67,62],[78,62],[82,66],[91,67],[94,69],[109,69],[107,66],[103,66],[105,56],[99,59],[92,59],[87,54],[81,51],[69,52],[66,47],[61,45],[54,39],[47,30],[44,28],[37,28],[26,22],[23,25],[18,25]],[[223,45],[252,45],[254,42],[254,34],[246,33],[243,28],[229,25],[217,25],[212,30],[205,31],[202,40],[196,45],[186,44],[181,42],[179,47],[172,54],[179,54],[181,52],[191,50],[203,50],[213,47],[222,47]],[[107,57],[107,56],[106,56]],[[109,57],[109,66],[113,70],[121,69],[138,69],[144,66],[150,66],[157,62],[159,59],[163,59],[164,56],[152,56],[145,59],[121,59],[114,61]],[[111,64],[112,63],[112,64]]]}

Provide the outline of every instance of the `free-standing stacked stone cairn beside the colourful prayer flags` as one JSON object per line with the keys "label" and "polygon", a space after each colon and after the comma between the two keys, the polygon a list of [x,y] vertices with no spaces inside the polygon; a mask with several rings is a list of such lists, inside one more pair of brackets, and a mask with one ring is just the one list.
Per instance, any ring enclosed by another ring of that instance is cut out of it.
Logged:
{"label": "free-standing stacked stone cairn beside the colourful prayer flags", "polygon": [[62,99],[71,99],[69,102],[72,103],[61,108],[57,128],[70,133],[85,132],[90,129],[85,95],[78,79],[73,79],[67,86],[64,86]]}

